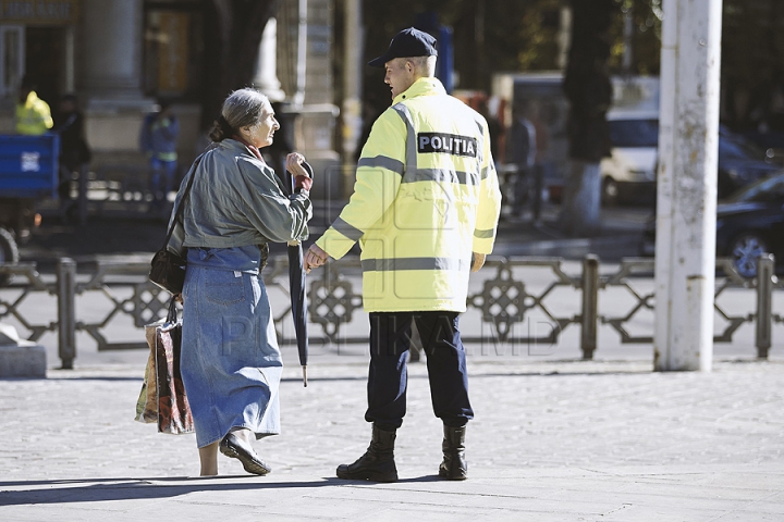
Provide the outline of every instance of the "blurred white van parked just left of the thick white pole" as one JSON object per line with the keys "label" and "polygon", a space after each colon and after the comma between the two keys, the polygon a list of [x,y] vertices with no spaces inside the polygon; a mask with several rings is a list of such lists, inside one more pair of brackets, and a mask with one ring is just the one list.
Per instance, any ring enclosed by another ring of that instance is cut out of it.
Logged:
{"label": "blurred white van parked just left of the thick white pole", "polygon": [[608,112],[612,156],[601,161],[602,202],[615,204],[634,198],[652,202],[656,198],[659,112],[613,109]]}

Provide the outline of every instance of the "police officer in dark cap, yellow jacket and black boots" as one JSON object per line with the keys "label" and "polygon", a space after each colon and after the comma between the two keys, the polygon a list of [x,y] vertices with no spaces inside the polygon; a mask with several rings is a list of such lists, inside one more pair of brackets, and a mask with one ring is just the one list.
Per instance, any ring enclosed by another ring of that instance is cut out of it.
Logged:
{"label": "police officer in dark cap, yellow jacket and black boots", "polygon": [[436,417],[444,426],[439,476],[465,480],[465,425],[474,418],[458,314],[468,276],[495,239],[501,192],[485,119],[433,76],[436,39],[399,33],[369,65],[384,67],[393,104],[363,148],[348,204],[308,250],[307,270],[362,247],[370,314],[368,409],[372,440],[340,478],[394,482],[395,431],[406,409],[412,322],[427,355]]}

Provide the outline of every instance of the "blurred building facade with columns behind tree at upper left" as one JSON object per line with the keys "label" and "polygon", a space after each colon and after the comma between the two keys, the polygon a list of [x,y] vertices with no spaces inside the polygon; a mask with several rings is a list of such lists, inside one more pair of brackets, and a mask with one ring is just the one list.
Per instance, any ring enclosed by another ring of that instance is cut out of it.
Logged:
{"label": "blurred building facade with columns behind tree at upper left", "polygon": [[[331,67],[334,0],[281,0],[265,29],[254,85],[303,113],[297,148],[336,161]],[[0,133],[13,130],[24,76],[52,111],[75,92],[95,161],[136,161],[138,130],[156,101],[173,102],[187,166],[205,146],[211,0],[0,0]],[[215,53],[212,53],[215,54]],[[206,117],[205,117],[206,116]]]}

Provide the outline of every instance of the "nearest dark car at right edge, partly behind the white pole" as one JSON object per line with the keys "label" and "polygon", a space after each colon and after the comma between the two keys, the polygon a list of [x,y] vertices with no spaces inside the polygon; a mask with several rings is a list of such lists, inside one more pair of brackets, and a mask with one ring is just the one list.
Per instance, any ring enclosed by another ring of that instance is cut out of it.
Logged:
{"label": "nearest dark car at right edge, partly behind the white pole", "polygon": [[[652,256],[656,220],[646,227],[641,253]],[[716,256],[731,257],[744,277],[757,275],[757,259],[775,256],[776,271],[784,269],[784,174],[748,185],[719,201]]]}

